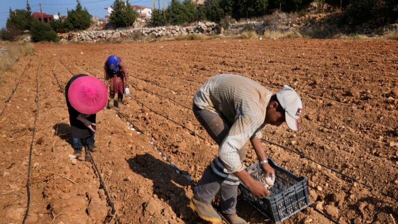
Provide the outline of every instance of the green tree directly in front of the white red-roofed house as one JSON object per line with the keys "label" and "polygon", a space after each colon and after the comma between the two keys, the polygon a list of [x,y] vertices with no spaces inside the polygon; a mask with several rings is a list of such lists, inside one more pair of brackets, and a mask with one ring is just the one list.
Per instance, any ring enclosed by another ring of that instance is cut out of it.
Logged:
{"label": "green tree directly in front of the white red-roofed house", "polygon": [[109,21],[116,27],[128,27],[132,25],[138,17],[138,13],[134,10],[129,1],[124,3],[123,0],[115,0],[112,4],[112,13]]}

